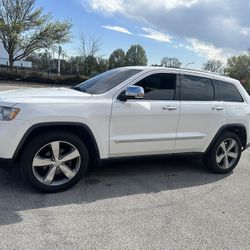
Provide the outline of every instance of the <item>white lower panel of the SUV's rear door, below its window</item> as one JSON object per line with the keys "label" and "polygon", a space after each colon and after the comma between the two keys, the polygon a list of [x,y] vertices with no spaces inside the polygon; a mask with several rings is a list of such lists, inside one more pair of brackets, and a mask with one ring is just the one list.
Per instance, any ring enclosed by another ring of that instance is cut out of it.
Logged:
{"label": "white lower panel of the SUV's rear door, below its window", "polygon": [[218,128],[225,124],[227,113],[221,102],[181,101],[175,153],[205,152]]}

